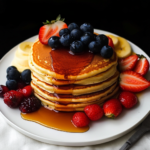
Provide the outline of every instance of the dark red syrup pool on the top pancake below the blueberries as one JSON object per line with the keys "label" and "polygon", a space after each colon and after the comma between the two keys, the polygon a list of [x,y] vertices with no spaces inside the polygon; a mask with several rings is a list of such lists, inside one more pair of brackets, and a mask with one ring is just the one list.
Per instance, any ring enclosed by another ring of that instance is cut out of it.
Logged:
{"label": "dark red syrup pool on the top pancake below the blueberries", "polygon": [[[68,76],[77,76],[92,60],[94,54],[85,51],[82,54],[72,55],[69,49],[56,49],[50,51],[52,60],[52,68],[56,74],[64,75],[64,79],[68,80]],[[57,78],[57,77],[56,77]]]}

